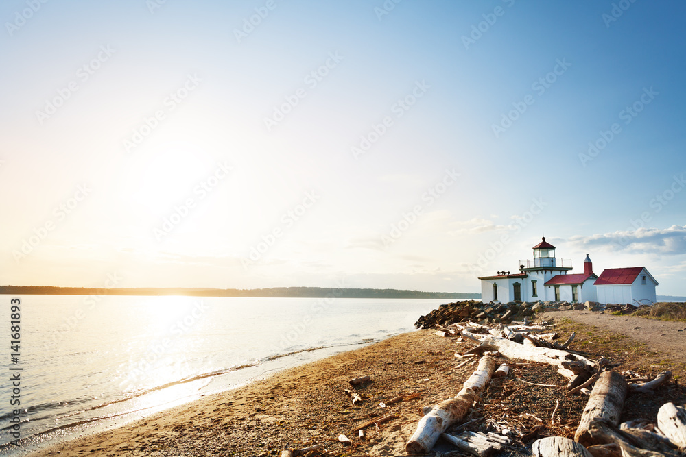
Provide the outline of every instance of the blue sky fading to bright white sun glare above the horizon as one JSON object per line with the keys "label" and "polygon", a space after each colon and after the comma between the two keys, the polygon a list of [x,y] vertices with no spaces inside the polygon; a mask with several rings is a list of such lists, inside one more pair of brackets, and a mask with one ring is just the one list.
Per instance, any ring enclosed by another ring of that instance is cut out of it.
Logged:
{"label": "blue sky fading to bright white sun glare above the horizon", "polygon": [[686,295],[686,4],[6,0],[0,284]]}

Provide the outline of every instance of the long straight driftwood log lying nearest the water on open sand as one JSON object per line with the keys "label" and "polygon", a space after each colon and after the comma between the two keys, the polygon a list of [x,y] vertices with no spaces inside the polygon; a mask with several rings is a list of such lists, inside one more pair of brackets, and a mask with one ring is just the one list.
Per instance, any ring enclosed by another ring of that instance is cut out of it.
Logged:
{"label": "long straight driftwood log lying nearest the water on open sand", "polygon": [[407,453],[425,454],[429,452],[438,441],[438,437],[450,425],[462,419],[471,408],[471,404],[479,399],[479,393],[490,381],[494,369],[495,360],[490,356],[482,357],[476,371],[464,382],[458,395],[436,405],[420,419],[416,431],[405,445]]}

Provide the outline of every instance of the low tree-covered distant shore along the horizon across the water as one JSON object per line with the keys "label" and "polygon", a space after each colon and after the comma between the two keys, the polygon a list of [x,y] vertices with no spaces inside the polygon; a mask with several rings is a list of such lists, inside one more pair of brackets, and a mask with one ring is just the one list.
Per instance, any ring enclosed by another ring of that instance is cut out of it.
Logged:
{"label": "low tree-covered distant shore along the horizon across the water", "polygon": [[480,293],[423,292],[397,289],[333,288],[333,287],[273,287],[258,289],[134,287],[90,288],[56,286],[0,286],[5,295],[185,295],[192,297],[278,297],[278,298],[438,298],[480,299]]}

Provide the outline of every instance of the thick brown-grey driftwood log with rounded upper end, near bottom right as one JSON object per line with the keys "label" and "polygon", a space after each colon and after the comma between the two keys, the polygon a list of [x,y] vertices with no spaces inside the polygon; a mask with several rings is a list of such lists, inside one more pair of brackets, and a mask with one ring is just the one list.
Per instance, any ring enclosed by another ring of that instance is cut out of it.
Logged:
{"label": "thick brown-grey driftwood log with rounded upper end, near bottom right", "polygon": [[574,440],[584,446],[595,444],[607,444],[612,441],[603,441],[602,437],[593,437],[589,433],[589,425],[594,419],[604,419],[611,425],[619,424],[619,415],[622,414],[624,399],[626,398],[626,381],[624,376],[616,371],[603,371],[595,382],[591,397],[581,415],[579,426],[574,434]]}

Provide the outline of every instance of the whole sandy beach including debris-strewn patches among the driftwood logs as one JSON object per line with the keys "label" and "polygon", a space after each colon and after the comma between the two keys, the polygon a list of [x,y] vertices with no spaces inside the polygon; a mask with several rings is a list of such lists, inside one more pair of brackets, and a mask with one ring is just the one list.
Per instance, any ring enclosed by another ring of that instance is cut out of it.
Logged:
{"label": "whole sandy beach including debris-strewn patches among the driftwood logs", "polygon": [[[618,338],[602,351],[619,355],[632,344]],[[316,444],[331,456],[405,455],[421,408],[456,393],[475,369],[475,361],[458,367],[463,360],[455,357],[470,347],[473,343],[441,338],[434,330],[401,334],[31,456],[279,456],[283,449]],[[587,397],[565,397],[567,380],[549,366],[497,360],[512,371],[486,388],[464,419],[473,420],[469,430],[510,430],[512,445],[501,455],[511,456],[525,455],[539,437],[573,437]],[[372,380],[355,388],[364,401],[353,406],[344,390],[351,389],[348,380],[362,375]],[[379,405],[399,395],[405,399]],[[663,402],[684,397],[683,388],[674,384],[654,394],[636,394],[623,420],[650,417]],[[358,439],[357,427],[390,414],[394,419],[366,427],[364,440]],[[352,439],[352,447],[339,443],[339,434]],[[451,447],[439,442],[435,449],[447,452]]]}

